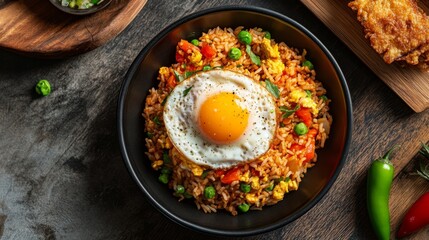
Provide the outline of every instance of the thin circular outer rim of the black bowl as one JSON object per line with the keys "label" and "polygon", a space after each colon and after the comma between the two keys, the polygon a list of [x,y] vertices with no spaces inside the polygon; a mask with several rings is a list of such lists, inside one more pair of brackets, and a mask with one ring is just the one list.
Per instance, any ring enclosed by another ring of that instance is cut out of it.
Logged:
{"label": "thin circular outer rim of the black bowl", "polygon": [[[323,51],[323,53],[326,55],[326,57],[331,61],[336,73],[338,74],[338,78],[340,80],[341,87],[343,88],[345,105],[346,105],[346,110],[347,110],[346,115],[347,115],[348,121],[347,121],[347,129],[346,129],[347,132],[346,132],[346,136],[345,136],[344,149],[343,149],[343,152],[341,154],[341,158],[340,158],[340,161],[338,162],[338,165],[337,165],[335,172],[333,173],[331,179],[329,179],[327,184],[319,192],[319,194],[314,199],[312,199],[307,204],[305,204],[297,212],[290,215],[287,219],[282,220],[282,221],[275,223],[275,224],[266,225],[266,226],[258,227],[258,228],[252,228],[249,230],[239,230],[239,231],[218,230],[218,229],[211,229],[211,228],[207,228],[207,227],[202,227],[202,226],[196,225],[194,223],[185,221],[185,220],[181,219],[179,216],[176,216],[176,215],[172,214],[171,212],[169,212],[168,210],[166,210],[161,204],[159,204],[156,201],[156,199],[154,199],[149,194],[149,192],[146,190],[145,186],[140,182],[136,171],[132,167],[132,163],[131,163],[130,158],[128,156],[127,147],[125,146],[125,136],[124,136],[124,129],[123,129],[124,118],[123,118],[123,114],[122,114],[124,112],[125,97],[127,95],[128,87],[129,87],[129,85],[133,79],[134,74],[138,70],[143,59],[149,53],[150,49],[153,46],[155,46],[163,37],[165,37],[171,30],[178,27],[179,25],[184,24],[184,23],[186,23],[192,19],[195,19],[197,17],[201,17],[201,16],[206,15],[206,14],[222,12],[222,11],[249,11],[249,12],[260,13],[260,14],[264,14],[267,16],[271,16],[271,17],[274,17],[274,18],[277,18],[277,19],[280,19],[282,21],[287,22],[288,24],[292,25],[293,27],[297,28],[299,31],[304,33],[306,36],[308,36],[312,41],[314,41],[317,44],[317,46]],[[293,19],[291,19],[291,18],[289,18],[289,17],[287,17],[281,13],[270,10],[270,9],[266,9],[263,7],[257,7],[257,6],[225,5],[225,6],[218,6],[218,7],[211,7],[211,8],[203,9],[203,10],[197,11],[195,13],[189,14],[187,16],[184,16],[183,18],[181,18],[179,20],[176,20],[175,22],[173,22],[170,25],[168,25],[167,27],[165,27],[161,32],[156,34],[156,36],[154,38],[152,38],[152,40],[150,40],[147,43],[147,45],[140,51],[140,53],[137,55],[137,57],[135,58],[135,60],[131,64],[130,68],[128,69],[128,71],[125,75],[124,81],[122,83],[120,92],[119,92],[119,101],[118,101],[118,106],[117,106],[117,130],[118,130],[118,134],[119,134],[118,137],[119,137],[120,151],[121,151],[124,163],[125,163],[128,171],[129,171],[129,173],[131,174],[133,180],[137,183],[139,188],[144,192],[145,196],[147,197],[149,202],[152,204],[152,206],[157,208],[168,219],[170,219],[173,222],[175,222],[175,223],[177,223],[183,227],[186,227],[188,229],[191,229],[191,230],[194,230],[194,231],[197,231],[200,233],[215,235],[215,236],[240,237],[240,236],[257,235],[257,234],[269,232],[269,231],[275,230],[277,228],[283,227],[283,226],[287,225],[288,223],[293,222],[296,219],[298,219],[299,217],[301,217],[302,215],[304,215],[306,212],[308,212],[311,208],[313,208],[326,195],[326,193],[332,187],[332,185],[336,181],[338,175],[340,174],[341,169],[343,168],[345,161],[346,161],[346,158],[347,158],[347,155],[348,155],[348,151],[349,151],[349,147],[350,147],[350,143],[351,143],[351,139],[352,139],[352,129],[353,129],[352,128],[352,125],[353,125],[352,112],[353,112],[353,110],[352,110],[351,95],[350,95],[349,88],[347,86],[347,82],[345,80],[345,77],[344,77],[337,61],[334,59],[334,57],[329,52],[329,50],[323,45],[323,43],[317,37],[315,37],[315,35],[313,35],[309,30],[307,30],[304,26],[302,26],[297,21],[295,21],[295,20],[293,20]]]}

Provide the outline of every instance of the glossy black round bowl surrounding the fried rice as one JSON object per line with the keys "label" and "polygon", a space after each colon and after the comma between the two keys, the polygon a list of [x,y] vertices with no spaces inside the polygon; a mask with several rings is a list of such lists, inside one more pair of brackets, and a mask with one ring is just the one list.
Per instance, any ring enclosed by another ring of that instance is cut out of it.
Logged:
{"label": "glossy black round bowl surrounding the fried rice", "polygon": [[[205,214],[192,201],[178,202],[172,191],[158,181],[145,156],[144,108],[148,90],[157,85],[161,66],[175,61],[175,46],[180,39],[192,39],[214,27],[260,27],[277,41],[308,51],[332,99],[333,115],[330,138],[318,151],[318,162],[309,169],[299,190],[283,201],[262,211],[232,216],[227,212]],[[346,159],[352,131],[350,93],[338,64],[323,44],[294,20],[257,7],[219,7],[204,10],[173,23],[158,34],[140,52],[131,65],[119,96],[118,131],[122,155],[131,176],[149,201],[165,216],[190,229],[216,235],[245,236],[284,226],[311,209],[334,183]]]}

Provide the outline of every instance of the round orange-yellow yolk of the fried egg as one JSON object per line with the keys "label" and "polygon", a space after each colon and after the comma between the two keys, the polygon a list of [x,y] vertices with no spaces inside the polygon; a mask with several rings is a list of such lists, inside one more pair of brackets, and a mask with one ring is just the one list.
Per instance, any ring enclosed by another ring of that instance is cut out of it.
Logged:
{"label": "round orange-yellow yolk of the fried egg", "polygon": [[198,124],[208,139],[228,144],[244,133],[249,111],[238,105],[238,101],[238,96],[223,92],[208,97],[201,105]]}

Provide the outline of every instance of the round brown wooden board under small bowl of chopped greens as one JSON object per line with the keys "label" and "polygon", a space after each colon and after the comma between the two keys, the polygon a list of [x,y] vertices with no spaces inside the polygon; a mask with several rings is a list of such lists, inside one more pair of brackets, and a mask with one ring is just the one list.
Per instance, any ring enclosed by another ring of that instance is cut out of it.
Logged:
{"label": "round brown wooden board under small bowl of chopped greens", "polygon": [[117,36],[146,2],[113,0],[97,13],[75,16],[48,0],[0,1],[0,48],[41,58],[84,53]]}

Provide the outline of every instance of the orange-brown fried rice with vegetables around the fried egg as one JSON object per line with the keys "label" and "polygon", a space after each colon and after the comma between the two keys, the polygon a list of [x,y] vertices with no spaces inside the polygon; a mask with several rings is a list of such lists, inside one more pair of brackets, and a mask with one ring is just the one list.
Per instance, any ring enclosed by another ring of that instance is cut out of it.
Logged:
{"label": "orange-brown fried rice with vegetables around the fried egg", "polygon": [[[160,68],[158,87],[149,91],[142,113],[147,134],[146,154],[152,168],[159,172],[160,181],[172,189],[172,195],[179,201],[194,201],[197,208],[206,213],[224,209],[237,215],[243,205],[260,210],[283,200],[288,192],[298,190],[307,169],[317,161],[315,149],[324,146],[332,124],[326,90],[316,80],[312,66],[303,64],[307,61],[306,51],[300,53],[284,42],[276,43],[263,29],[248,29],[252,36],[251,50],[261,59],[258,66],[246,53],[246,44],[237,38],[242,30],[243,27],[210,29],[199,37],[196,48],[183,48],[179,43],[176,63]],[[215,50],[214,55],[202,51],[202,56],[198,56],[197,51],[206,45]],[[233,47],[243,53],[235,61],[228,57]],[[262,85],[268,80],[279,90],[276,134],[270,149],[259,159],[231,169],[210,169],[187,160],[168,138],[163,123],[166,98],[178,82],[208,66],[242,73]],[[305,97],[300,96],[303,92]],[[311,109],[311,118],[303,119],[300,109]],[[304,120],[309,131],[298,135],[294,127]],[[237,177],[226,181],[231,171],[235,171]],[[243,190],[243,185],[247,189]],[[208,186],[215,189],[211,198],[204,194]]]}

